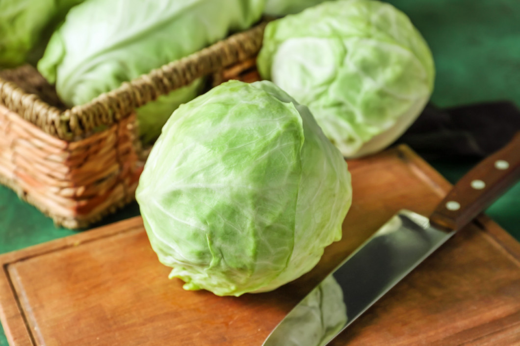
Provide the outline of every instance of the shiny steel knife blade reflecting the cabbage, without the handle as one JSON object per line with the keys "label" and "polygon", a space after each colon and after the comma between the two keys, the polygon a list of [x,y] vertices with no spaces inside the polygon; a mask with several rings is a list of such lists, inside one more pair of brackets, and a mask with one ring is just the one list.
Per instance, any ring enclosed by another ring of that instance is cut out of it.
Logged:
{"label": "shiny steel knife blade reflecting the cabbage, without the handle", "polygon": [[454,233],[401,210],[309,292],[263,345],[327,344]]}

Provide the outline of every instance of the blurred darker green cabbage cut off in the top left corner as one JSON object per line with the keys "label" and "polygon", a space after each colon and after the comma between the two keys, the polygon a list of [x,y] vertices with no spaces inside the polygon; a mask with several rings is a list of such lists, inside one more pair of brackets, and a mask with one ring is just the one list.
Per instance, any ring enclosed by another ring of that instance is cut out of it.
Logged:
{"label": "blurred darker green cabbage cut off in the top left corner", "polygon": [[30,56],[37,61],[52,31],[70,8],[83,1],[0,1],[0,68],[21,65]]}

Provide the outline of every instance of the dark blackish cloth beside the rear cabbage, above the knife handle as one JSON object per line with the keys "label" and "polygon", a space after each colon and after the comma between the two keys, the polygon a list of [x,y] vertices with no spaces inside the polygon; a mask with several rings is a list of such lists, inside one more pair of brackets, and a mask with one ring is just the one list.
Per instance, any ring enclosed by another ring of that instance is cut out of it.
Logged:
{"label": "dark blackish cloth beside the rear cabbage, above the knife handle", "polygon": [[520,111],[511,102],[446,109],[428,104],[395,144],[408,144],[426,160],[479,159],[502,148],[517,131]]}

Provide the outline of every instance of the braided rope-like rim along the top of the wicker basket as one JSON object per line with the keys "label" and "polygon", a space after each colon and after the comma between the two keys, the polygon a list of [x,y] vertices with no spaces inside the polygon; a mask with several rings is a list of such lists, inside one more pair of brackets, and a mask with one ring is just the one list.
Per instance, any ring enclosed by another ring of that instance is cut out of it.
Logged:
{"label": "braided rope-like rim along the top of the wicker basket", "polygon": [[60,110],[0,77],[0,103],[49,135],[75,141],[98,126],[110,126],[147,102],[186,86],[195,79],[256,55],[268,20],[232,34],[185,58],[170,62],[90,102]]}

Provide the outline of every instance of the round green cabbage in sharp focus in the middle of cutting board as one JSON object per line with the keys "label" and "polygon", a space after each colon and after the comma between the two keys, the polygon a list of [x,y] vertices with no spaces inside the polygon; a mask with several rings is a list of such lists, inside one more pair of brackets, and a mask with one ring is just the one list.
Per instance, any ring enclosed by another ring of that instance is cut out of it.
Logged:
{"label": "round green cabbage in sharp focus in the middle of cutting board", "polygon": [[271,82],[230,81],[172,114],[136,198],[170,277],[240,296],[312,269],[342,236],[352,187],[307,107]]}

